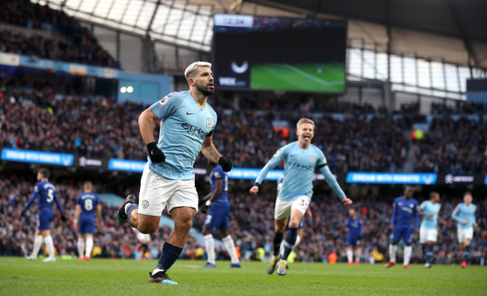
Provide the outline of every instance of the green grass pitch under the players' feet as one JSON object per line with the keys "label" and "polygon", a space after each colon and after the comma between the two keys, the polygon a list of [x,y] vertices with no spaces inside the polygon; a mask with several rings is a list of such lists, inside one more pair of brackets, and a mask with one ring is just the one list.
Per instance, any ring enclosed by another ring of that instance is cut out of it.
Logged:
{"label": "green grass pitch under the players' feet", "polygon": [[92,259],[29,262],[0,257],[0,295],[487,295],[487,267],[292,263],[287,276],[267,275],[267,263],[241,269],[203,269],[177,261],[169,270],[180,285],[148,284],[156,261]]}

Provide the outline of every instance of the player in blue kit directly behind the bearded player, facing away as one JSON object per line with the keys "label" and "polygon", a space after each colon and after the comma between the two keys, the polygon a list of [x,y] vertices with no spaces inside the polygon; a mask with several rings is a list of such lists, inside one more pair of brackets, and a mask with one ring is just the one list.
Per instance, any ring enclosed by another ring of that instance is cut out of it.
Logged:
{"label": "player in blue kit directly behind the bearded player, facing away", "polygon": [[[216,163],[212,163],[215,165]],[[232,236],[228,233],[228,222],[230,220],[230,201],[228,201],[228,175],[220,165],[216,165],[210,174],[211,193],[206,194],[203,198],[205,204],[201,211],[206,213],[210,211],[205,218],[203,226],[203,235],[205,236],[205,249],[208,256],[208,262],[203,267],[216,267],[215,262],[215,242],[212,235],[212,229],[218,229],[221,234],[221,240],[225,249],[230,255],[231,264],[229,268],[239,268],[240,262],[236,255],[235,243]]]}

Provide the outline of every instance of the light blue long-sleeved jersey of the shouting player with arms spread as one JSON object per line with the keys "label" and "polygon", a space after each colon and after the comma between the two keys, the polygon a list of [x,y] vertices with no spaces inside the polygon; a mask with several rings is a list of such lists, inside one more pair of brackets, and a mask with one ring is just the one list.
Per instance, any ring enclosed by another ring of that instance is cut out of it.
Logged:
{"label": "light blue long-sleeved jersey of the shouting player with arms spread", "polygon": [[292,201],[302,195],[306,195],[311,199],[313,196],[313,174],[316,168],[320,169],[335,194],[340,199],[345,197],[342,188],[336,182],[336,178],[329,171],[323,152],[313,144],[307,149],[300,148],[298,141],[294,141],[277,150],[262,171],[259,172],[255,182],[261,184],[267,173],[282,161],[284,161],[285,177],[282,182],[282,188],[277,195],[277,198],[282,201]]}

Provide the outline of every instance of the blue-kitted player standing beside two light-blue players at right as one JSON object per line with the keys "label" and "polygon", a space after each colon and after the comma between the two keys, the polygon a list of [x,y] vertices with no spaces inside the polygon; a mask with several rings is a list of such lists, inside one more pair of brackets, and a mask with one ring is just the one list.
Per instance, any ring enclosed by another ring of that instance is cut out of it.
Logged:
{"label": "blue-kitted player standing beside two light-blue players at right", "polygon": [[419,203],[413,198],[413,188],[406,186],[403,196],[394,200],[394,209],[390,219],[390,229],[392,232],[392,243],[389,245],[389,262],[386,267],[390,268],[396,264],[396,253],[398,252],[398,242],[403,239],[404,262],[403,267],[409,268],[409,260],[413,253],[411,243],[414,232],[420,227]]}

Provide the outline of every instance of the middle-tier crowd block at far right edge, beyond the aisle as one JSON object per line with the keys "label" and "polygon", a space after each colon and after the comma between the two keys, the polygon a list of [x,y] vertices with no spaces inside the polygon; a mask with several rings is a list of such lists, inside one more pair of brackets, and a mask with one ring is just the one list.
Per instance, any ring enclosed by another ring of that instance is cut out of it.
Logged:
{"label": "middle-tier crowd block at far right edge, beyond the aisle", "polygon": [[[456,108],[433,104],[424,139],[417,141],[415,171],[453,175],[487,173],[487,122],[483,104],[459,102]],[[456,118],[453,118],[456,116]],[[469,116],[474,116],[469,117]]]}

